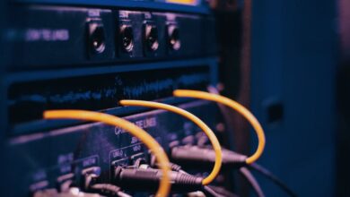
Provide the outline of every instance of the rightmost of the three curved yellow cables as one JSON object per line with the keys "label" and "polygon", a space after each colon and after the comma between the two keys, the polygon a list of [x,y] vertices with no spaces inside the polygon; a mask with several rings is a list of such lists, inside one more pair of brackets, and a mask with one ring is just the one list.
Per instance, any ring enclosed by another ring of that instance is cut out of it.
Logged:
{"label": "rightmost of the three curved yellow cables", "polygon": [[254,163],[256,160],[258,160],[258,158],[260,158],[265,148],[265,133],[261,125],[258,123],[257,118],[254,115],[252,115],[246,107],[243,107],[241,104],[232,99],[228,99],[213,93],[208,93],[206,91],[174,90],[173,95],[175,97],[188,97],[211,100],[231,107],[232,109],[238,111],[241,114],[241,116],[244,116],[249,121],[249,123],[253,126],[258,135],[258,149],[253,155],[247,158],[246,163]]}

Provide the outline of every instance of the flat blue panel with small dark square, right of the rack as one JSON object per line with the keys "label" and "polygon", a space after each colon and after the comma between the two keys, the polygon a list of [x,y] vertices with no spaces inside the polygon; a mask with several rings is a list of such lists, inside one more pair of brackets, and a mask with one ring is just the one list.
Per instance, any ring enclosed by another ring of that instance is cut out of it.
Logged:
{"label": "flat blue panel with small dark square, right of the rack", "polygon": [[[337,4],[254,1],[252,24],[251,107],[267,130],[260,162],[301,196],[334,196]],[[282,196],[261,184],[267,196]]]}

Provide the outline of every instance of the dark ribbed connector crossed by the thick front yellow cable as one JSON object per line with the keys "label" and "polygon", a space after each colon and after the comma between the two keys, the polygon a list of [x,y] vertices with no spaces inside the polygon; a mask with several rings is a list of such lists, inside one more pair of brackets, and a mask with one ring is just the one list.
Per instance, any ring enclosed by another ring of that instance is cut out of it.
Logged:
{"label": "dark ribbed connector crossed by the thick front yellow cable", "polygon": [[[171,191],[188,193],[202,189],[202,177],[171,171]],[[162,171],[154,168],[116,167],[114,181],[125,190],[155,192],[162,179]]]}

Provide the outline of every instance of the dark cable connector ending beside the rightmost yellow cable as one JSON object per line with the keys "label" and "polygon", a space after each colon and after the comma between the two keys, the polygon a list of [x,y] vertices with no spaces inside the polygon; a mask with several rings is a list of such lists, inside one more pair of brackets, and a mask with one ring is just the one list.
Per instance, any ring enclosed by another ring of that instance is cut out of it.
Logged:
{"label": "dark cable connector ending beside the rightmost yellow cable", "polygon": [[[223,167],[242,167],[246,165],[247,156],[232,150],[222,149]],[[215,152],[211,147],[180,146],[171,149],[171,158],[181,166],[212,167]]]}

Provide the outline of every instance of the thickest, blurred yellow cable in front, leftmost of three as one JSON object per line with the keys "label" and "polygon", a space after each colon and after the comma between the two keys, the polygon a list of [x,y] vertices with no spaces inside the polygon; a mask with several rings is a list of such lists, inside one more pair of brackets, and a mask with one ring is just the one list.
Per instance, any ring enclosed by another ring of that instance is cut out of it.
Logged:
{"label": "thickest, blurred yellow cable in front, leftmost of three", "polygon": [[161,145],[153,139],[153,137],[146,133],[143,129],[139,128],[135,124],[128,122],[122,118],[103,114],[99,112],[84,111],[84,110],[49,110],[44,112],[44,118],[46,119],[78,119],[87,120],[94,122],[102,122],[104,124],[110,124],[118,126],[128,133],[136,136],[147,146],[148,149],[152,150],[154,156],[157,158],[162,169],[162,180],[159,185],[159,189],[156,196],[165,197],[168,196],[171,189],[170,182],[170,164],[167,155],[162,149]]}

